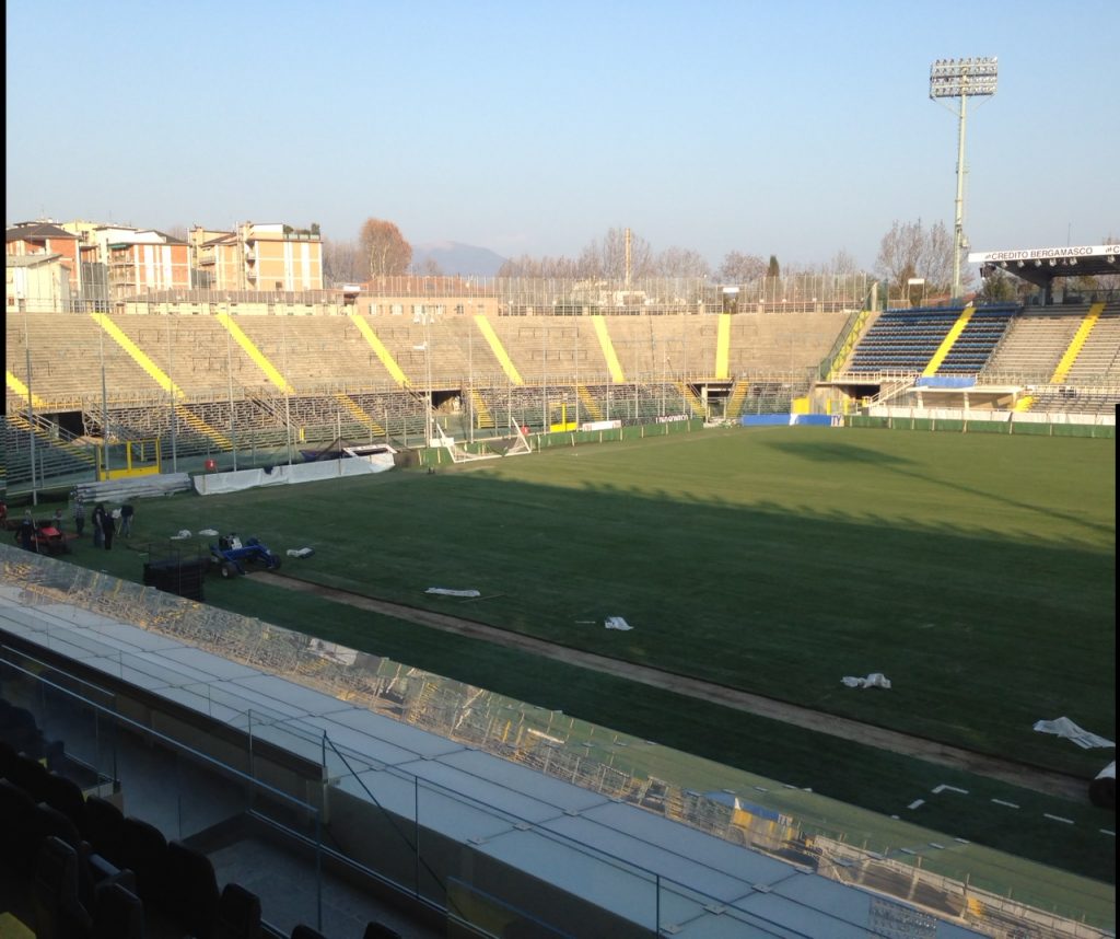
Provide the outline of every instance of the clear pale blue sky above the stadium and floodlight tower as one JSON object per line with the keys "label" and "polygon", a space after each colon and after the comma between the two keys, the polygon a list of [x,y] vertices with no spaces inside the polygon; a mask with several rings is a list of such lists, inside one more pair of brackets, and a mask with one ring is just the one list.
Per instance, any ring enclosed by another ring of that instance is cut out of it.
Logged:
{"label": "clear pale blue sky above the stadium and floodlight tower", "polygon": [[[1120,3],[9,0],[8,223],[241,221],[576,255],[870,268],[952,230],[936,58],[999,57],[970,108],[974,250],[1120,235]],[[1112,167],[1109,169],[1109,167]]]}

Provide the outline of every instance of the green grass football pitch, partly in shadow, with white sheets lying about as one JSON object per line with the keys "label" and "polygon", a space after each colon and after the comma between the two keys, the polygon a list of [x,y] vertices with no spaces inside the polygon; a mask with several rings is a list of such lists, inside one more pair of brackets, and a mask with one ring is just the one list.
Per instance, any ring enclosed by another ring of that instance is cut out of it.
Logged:
{"label": "green grass football pitch, partly in shadow, with white sheets lying about", "polygon": [[[728,428],[146,500],[132,547],[207,527],[314,547],[284,573],[1088,780],[1114,751],[1032,727],[1065,715],[1114,740],[1114,471],[1112,440]],[[92,555],[77,560],[138,579],[134,554]],[[1099,834],[1114,816],[1088,805],[252,578],[211,580],[207,601],[878,812],[963,780],[1076,824],[1007,825],[976,800],[923,824],[1114,882]],[[605,630],[612,615],[633,630]],[[872,671],[889,691],[841,684]]]}

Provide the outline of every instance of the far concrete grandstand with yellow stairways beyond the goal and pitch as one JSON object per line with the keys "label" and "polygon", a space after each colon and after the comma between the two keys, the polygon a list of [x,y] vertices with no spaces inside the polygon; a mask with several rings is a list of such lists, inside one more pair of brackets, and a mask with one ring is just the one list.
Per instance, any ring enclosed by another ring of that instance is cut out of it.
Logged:
{"label": "far concrete grandstand with yellow stairways beyond the goal and pitch", "polygon": [[470,440],[511,424],[548,434],[887,405],[1105,420],[1120,401],[1120,300],[1054,283],[1108,275],[1116,245],[1062,251],[973,255],[1037,286],[1026,303],[896,309],[862,278],[386,278],[368,296],[153,292],[112,312],[9,297],[6,483],[157,456],[273,463],[336,438],[410,449],[431,441],[433,419]]}

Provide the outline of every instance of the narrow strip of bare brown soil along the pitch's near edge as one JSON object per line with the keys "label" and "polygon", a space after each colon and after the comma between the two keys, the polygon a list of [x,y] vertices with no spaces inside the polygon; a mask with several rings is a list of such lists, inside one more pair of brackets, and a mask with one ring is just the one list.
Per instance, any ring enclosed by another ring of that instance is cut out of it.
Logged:
{"label": "narrow strip of bare brown soil along the pitch's near edge", "polygon": [[472,639],[479,639],[497,645],[517,649],[522,652],[530,652],[534,656],[556,659],[568,664],[622,676],[631,681],[640,681],[643,685],[651,685],[655,688],[674,691],[679,695],[687,695],[699,700],[712,701],[724,707],[737,708],[760,717],[782,720],[796,727],[816,731],[821,734],[830,734],[834,737],[855,741],[856,743],[875,746],[892,753],[914,756],[918,760],[939,763],[955,770],[963,770],[976,775],[1000,780],[1047,796],[1056,796],[1076,802],[1088,801],[1089,783],[1077,777],[1040,770],[1036,766],[1024,765],[1010,760],[1000,760],[981,753],[973,753],[923,737],[900,734],[897,731],[888,731],[872,724],[862,724],[858,720],[837,717],[833,714],[799,707],[797,705],[778,701],[760,695],[752,695],[748,691],[740,691],[724,685],[713,685],[694,678],[674,675],[673,672],[650,668],[648,666],[640,666],[622,661],[620,659],[597,656],[594,652],[582,652],[567,645],[545,642],[541,639],[522,635],[521,633],[496,626],[488,626],[484,623],[465,620],[459,616],[450,616],[446,613],[436,613],[430,610],[375,599],[362,594],[351,593],[349,591],[340,591],[334,587],[325,587],[320,584],[298,580],[281,574],[254,573],[253,579],[290,591],[315,594],[316,596],[321,596],[324,599],[345,603],[360,610],[383,613],[388,616],[405,620],[430,629],[454,632]]}

